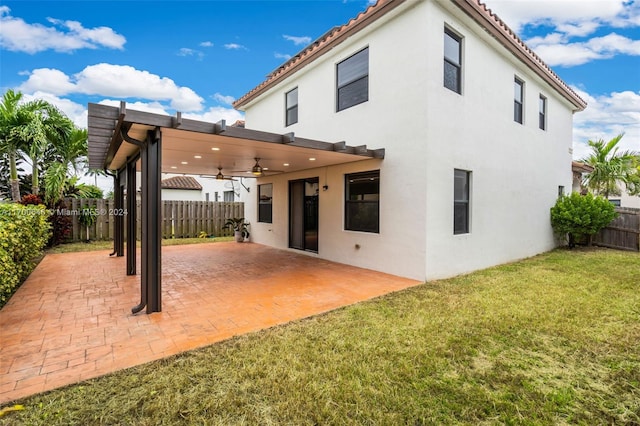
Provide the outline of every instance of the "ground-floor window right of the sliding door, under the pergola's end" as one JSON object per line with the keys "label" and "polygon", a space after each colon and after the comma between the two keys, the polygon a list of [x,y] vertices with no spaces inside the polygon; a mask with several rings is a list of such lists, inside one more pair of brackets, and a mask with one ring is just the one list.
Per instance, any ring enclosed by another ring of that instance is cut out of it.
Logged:
{"label": "ground-floor window right of the sliding door, under the pergola's end", "polygon": [[345,176],[345,225],[350,231],[380,231],[380,170]]}

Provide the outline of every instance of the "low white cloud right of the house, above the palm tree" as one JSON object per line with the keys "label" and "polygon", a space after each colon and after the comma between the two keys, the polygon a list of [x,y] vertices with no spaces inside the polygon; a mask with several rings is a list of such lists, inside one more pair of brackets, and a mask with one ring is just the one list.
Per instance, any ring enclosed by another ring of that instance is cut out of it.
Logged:
{"label": "low white cloud right of the house, above the palm tree", "polygon": [[592,96],[573,88],[589,104],[573,118],[573,158],[589,154],[587,141],[610,140],[620,133],[621,150],[640,151],[640,92],[624,91]]}

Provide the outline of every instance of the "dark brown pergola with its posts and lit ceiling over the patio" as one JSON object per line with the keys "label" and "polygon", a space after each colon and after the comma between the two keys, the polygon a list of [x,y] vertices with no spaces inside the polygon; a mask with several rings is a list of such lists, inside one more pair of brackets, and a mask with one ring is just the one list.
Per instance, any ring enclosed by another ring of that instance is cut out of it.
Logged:
{"label": "dark brown pergola with its posts and lit ceiling over the patio", "polygon": [[[372,158],[384,149],[348,146],[244,127],[175,116],[89,104],[89,167],[114,178],[114,250],[124,256],[127,275],[136,275],[136,171],[141,182],[141,300],[137,313],[161,311],[161,173],[255,178],[259,159],[263,170],[290,173]],[[127,194],[125,199],[125,192]]]}

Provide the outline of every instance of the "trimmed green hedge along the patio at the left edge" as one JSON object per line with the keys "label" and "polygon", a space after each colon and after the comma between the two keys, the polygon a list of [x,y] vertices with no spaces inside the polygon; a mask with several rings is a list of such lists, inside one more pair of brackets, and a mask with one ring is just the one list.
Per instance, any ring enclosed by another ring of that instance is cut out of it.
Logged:
{"label": "trimmed green hedge along the patio at the left edge", "polygon": [[0,204],[0,307],[31,273],[49,238],[43,206]]}

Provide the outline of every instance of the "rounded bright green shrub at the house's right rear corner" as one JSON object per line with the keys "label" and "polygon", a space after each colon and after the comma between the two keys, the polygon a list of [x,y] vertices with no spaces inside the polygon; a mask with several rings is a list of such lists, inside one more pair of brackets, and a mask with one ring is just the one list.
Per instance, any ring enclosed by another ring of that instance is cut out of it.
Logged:
{"label": "rounded bright green shrub at the house's right rear corner", "polygon": [[573,248],[579,241],[590,244],[591,237],[617,215],[606,198],[573,192],[558,198],[551,208],[551,226],[559,237],[567,237],[569,248]]}

